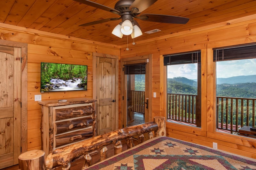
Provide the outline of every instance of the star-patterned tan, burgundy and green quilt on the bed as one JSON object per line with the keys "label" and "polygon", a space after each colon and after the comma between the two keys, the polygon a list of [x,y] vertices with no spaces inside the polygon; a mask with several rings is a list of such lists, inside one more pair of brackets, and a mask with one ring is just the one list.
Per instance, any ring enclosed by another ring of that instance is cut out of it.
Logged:
{"label": "star-patterned tan, burgundy and green quilt on the bed", "polygon": [[234,155],[170,137],[156,137],[88,169],[203,170],[256,169],[256,159]]}

